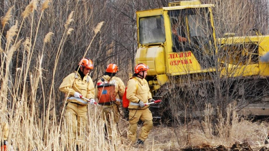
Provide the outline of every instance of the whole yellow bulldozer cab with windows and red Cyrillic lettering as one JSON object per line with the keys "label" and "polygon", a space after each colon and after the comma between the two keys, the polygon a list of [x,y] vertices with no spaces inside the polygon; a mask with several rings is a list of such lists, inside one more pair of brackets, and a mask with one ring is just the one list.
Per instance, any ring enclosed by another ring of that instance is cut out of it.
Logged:
{"label": "whole yellow bulldozer cab with windows and red Cyrillic lettering", "polygon": [[172,4],[137,11],[136,63],[147,64],[148,76],[157,77],[158,84],[167,81],[167,75],[215,70],[214,5],[200,1]]}

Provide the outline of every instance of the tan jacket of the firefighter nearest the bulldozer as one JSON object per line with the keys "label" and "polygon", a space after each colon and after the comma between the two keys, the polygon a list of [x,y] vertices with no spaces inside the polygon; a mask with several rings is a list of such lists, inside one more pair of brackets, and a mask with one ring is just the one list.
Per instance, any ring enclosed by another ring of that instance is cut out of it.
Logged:
{"label": "tan jacket of the firefighter nearest the bulldozer", "polygon": [[132,105],[131,103],[138,103],[139,100],[143,101],[144,103],[148,103],[148,100],[152,99],[151,93],[149,91],[149,84],[146,79],[131,77],[127,83],[126,98],[130,101],[128,108],[148,108],[149,106],[140,108],[138,105]]}

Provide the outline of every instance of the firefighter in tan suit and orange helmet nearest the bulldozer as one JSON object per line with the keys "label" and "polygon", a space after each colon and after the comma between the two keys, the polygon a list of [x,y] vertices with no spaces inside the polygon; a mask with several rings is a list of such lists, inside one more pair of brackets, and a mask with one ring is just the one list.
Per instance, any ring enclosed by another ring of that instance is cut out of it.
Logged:
{"label": "firefighter in tan suit and orange helmet nearest the bulldozer", "polygon": [[130,123],[128,138],[132,143],[136,140],[137,122],[139,119],[144,122],[136,142],[138,145],[144,145],[144,140],[148,137],[153,126],[151,111],[149,106],[145,106],[145,103],[155,101],[152,99],[149,84],[145,79],[147,70],[149,67],[145,64],[137,64],[126,89],[126,98],[130,101],[128,106]]}

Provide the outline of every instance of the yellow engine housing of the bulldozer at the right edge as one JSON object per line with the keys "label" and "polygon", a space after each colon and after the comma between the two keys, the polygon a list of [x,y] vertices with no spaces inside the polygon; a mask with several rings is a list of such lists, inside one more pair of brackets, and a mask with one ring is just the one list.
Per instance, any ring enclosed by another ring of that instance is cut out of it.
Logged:
{"label": "yellow engine housing of the bulldozer at the right edge", "polygon": [[259,60],[269,51],[269,36],[219,38],[218,43],[228,53],[220,59],[222,77],[269,76],[269,64]]}

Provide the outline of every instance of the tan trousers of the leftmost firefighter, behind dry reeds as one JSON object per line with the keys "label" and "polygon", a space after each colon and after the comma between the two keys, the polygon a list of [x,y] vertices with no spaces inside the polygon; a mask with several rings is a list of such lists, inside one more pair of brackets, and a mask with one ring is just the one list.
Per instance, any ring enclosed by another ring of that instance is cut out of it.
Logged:
{"label": "tan trousers of the leftmost firefighter, behind dry reeds", "polygon": [[85,136],[87,106],[68,102],[64,118],[67,125],[68,144],[80,145],[84,140],[83,136]]}

